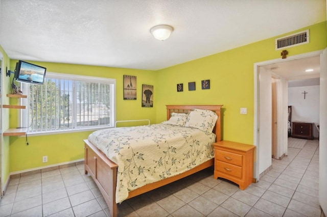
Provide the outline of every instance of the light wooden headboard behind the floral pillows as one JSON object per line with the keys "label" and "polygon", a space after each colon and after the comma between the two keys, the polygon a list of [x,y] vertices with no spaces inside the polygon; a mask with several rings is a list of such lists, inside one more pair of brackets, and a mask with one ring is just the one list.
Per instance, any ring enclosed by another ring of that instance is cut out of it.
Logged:
{"label": "light wooden headboard behind the floral pillows", "polygon": [[171,114],[185,113],[189,114],[193,108],[205,109],[215,112],[218,115],[214,133],[216,134],[216,142],[221,141],[221,107],[223,105],[166,105],[167,107],[167,120],[170,119]]}

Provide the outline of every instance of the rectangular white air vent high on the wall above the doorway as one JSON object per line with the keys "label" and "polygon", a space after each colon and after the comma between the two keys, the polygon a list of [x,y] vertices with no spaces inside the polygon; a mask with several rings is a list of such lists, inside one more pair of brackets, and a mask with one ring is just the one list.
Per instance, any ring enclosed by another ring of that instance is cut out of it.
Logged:
{"label": "rectangular white air vent high on the wall above the doorway", "polygon": [[294,47],[309,43],[309,30],[275,39],[275,49]]}

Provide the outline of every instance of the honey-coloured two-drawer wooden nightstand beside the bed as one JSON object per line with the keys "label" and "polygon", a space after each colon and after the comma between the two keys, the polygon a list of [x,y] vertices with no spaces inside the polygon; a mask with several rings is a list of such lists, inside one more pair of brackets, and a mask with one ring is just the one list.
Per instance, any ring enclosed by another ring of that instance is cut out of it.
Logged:
{"label": "honey-coloured two-drawer wooden nightstand beside the bed", "polygon": [[253,182],[253,154],[255,146],[230,141],[214,143],[214,178],[228,179],[244,190]]}

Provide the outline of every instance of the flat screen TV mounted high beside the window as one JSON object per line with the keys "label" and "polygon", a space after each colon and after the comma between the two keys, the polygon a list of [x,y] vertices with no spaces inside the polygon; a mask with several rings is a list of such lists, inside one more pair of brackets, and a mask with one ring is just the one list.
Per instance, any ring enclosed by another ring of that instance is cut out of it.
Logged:
{"label": "flat screen TV mounted high beside the window", "polygon": [[17,82],[43,85],[46,68],[19,60],[16,64],[15,78]]}

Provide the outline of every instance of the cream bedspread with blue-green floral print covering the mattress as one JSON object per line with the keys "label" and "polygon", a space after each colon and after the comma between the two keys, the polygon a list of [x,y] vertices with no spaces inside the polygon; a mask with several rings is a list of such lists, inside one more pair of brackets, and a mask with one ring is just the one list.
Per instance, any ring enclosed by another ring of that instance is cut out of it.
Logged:
{"label": "cream bedspread with blue-green floral print covering the mattress", "polygon": [[214,133],[167,124],[103,129],[88,137],[118,165],[116,203],[133,189],[212,159],[215,139]]}

